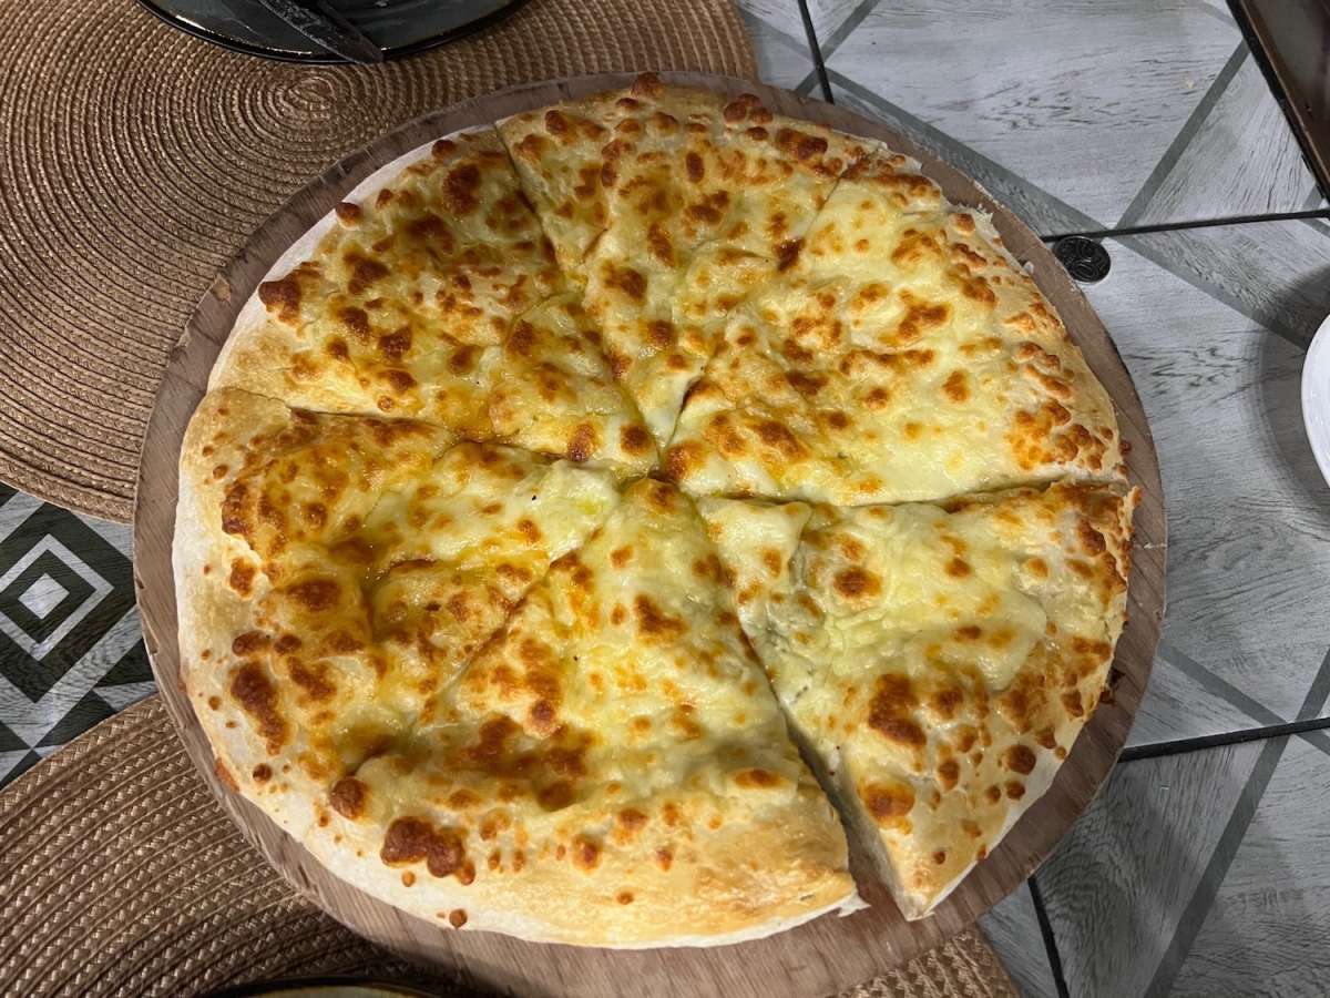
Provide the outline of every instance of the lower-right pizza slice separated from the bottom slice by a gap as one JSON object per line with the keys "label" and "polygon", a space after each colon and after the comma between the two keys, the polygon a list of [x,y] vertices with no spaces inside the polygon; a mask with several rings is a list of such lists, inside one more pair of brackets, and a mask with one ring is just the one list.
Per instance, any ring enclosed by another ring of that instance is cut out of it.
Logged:
{"label": "lower-right pizza slice separated from the bottom slice by a gap", "polygon": [[1123,629],[1136,492],[701,508],[777,695],[907,918],[1048,789]]}

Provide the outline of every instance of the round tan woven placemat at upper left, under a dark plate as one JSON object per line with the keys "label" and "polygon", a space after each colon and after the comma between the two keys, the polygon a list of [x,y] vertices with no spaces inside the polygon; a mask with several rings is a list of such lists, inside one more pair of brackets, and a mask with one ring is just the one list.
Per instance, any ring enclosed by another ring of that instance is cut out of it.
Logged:
{"label": "round tan woven placemat at upper left, under a dark plate", "polygon": [[186,317],[327,164],[517,83],[755,76],[729,0],[531,0],[483,35],[380,67],[227,52],[133,0],[32,0],[0,19],[0,479],[125,522]]}

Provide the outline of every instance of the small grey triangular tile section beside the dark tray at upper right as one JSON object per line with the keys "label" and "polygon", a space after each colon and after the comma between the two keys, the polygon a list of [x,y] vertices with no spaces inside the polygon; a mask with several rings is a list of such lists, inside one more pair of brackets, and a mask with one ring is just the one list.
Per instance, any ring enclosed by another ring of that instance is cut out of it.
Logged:
{"label": "small grey triangular tile section beside the dark tray at upper right", "polygon": [[1121,225],[1295,212],[1315,190],[1298,140],[1246,52],[1176,158],[1161,162]]}

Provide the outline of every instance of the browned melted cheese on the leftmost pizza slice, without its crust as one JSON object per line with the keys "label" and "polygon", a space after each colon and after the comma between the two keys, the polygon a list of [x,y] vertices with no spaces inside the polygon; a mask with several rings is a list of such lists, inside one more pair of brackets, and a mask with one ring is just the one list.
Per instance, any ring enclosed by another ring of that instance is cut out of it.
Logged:
{"label": "browned melted cheese on the leftmost pizza slice, without its crust", "polygon": [[[210,395],[213,414],[243,409]],[[226,415],[218,416],[226,424]],[[197,442],[218,447],[227,431]],[[310,765],[335,772],[427,713],[549,563],[617,503],[608,472],[492,444],[451,446],[404,420],[291,414],[218,464],[219,518],[243,555],[213,571],[250,600],[250,628],[219,649],[241,708],[291,723]],[[255,707],[262,676],[279,693]],[[253,697],[250,697],[253,700]],[[379,731],[382,729],[382,731]]]}

